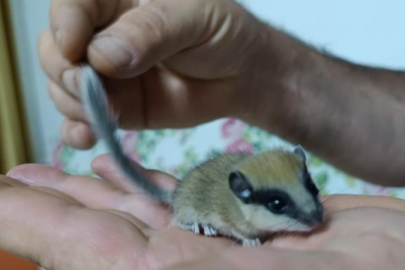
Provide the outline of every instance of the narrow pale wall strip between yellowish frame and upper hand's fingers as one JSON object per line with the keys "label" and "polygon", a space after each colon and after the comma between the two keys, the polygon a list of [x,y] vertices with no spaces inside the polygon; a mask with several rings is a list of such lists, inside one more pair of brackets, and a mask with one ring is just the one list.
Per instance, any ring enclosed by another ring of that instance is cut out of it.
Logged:
{"label": "narrow pale wall strip between yellowish frame and upper hand's fingers", "polygon": [[49,24],[50,0],[12,0],[14,32],[24,102],[29,120],[34,155],[37,162],[47,162],[52,142],[59,136],[61,115],[47,92],[47,79],[42,72],[37,39]]}

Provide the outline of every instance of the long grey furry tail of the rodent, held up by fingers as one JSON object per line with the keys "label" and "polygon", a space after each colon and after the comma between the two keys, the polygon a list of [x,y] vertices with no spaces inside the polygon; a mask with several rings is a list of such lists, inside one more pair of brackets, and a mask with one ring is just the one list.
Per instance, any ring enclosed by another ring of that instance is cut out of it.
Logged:
{"label": "long grey furry tail of the rodent, held up by fingers", "polygon": [[149,180],[132,165],[132,161],[123,152],[117,135],[118,124],[110,110],[107,94],[98,74],[89,65],[82,66],[81,95],[88,121],[99,139],[106,144],[117,166],[130,180],[147,192],[153,199],[171,203],[171,193],[149,182]]}

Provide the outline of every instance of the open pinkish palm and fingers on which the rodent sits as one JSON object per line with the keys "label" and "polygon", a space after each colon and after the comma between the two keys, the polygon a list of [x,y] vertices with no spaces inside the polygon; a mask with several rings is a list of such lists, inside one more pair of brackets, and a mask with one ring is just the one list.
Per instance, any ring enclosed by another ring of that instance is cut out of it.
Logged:
{"label": "open pinkish palm and fingers on which the rodent sits", "polygon": [[[102,179],[43,165],[23,165],[1,177],[0,247],[48,270],[396,270],[405,264],[402,200],[324,197],[328,222],[311,237],[244,248],[169,226],[169,210],[128,185],[108,156],[92,167]],[[162,187],[175,184],[167,174],[145,172]]]}

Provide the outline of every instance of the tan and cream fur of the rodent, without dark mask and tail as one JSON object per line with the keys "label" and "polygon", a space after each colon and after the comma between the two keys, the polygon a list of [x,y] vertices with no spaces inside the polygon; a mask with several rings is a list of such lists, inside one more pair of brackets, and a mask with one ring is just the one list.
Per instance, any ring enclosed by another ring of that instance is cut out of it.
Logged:
{"label": "tan and cream fur of the rodent, without dark mask and tail", "polygon": [[177,223],[210,225],[223,235],[241,240],[274,231],[307,230],[305,225],[286,216],[276,216],[261,205],[242,203],[229,187],[229,174],[235,170],[246,175],[254,189],[282,189],[297,204],[306,207],[306,211],[316,207],[302,184],[302,160],[293,152],[226,154],[198,166],[179,183],[173,197]]}

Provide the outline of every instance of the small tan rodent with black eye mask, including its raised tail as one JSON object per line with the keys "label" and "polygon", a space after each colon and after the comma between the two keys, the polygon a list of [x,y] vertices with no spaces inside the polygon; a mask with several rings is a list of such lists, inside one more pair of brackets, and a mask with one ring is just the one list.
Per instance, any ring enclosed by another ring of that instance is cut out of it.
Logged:
{"label": "small tan rodent with black eye mask, including its raised tail", "polygon": [[224,154],[192,169],[174,192],[149,182],[124,154],[118,125],[100,77],[82,68],[82,102],[98,138],[117,166],[153,199],[169,204],[176,224],[204,235],[222,235],[244,246],[277,232],[310,232],[323,222],[323,206],[304,150]]}

